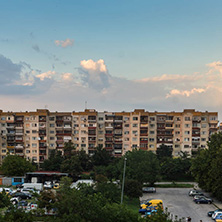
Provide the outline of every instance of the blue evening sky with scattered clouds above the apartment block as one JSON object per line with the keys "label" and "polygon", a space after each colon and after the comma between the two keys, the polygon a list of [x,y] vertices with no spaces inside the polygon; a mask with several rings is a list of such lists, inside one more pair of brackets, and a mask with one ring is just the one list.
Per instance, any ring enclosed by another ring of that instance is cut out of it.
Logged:
{"label": "blue evening sky with scattered clouds above the apartment block", "polygon": [[0,0],[0,109],[196,109],[221,119],[221,8],[221,0]]}

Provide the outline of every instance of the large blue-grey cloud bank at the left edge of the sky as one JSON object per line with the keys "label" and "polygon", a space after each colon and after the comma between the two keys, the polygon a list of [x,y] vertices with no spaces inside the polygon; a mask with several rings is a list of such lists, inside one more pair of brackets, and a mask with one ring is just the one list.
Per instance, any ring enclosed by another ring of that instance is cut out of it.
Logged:
{"label": "large blue-grey cloud bank at the left edge of the sky", "polygon": [[13,63],[10,59],[0,55],[0,94],[25,95],[43,93],[49,90],[54,82],[49,71],[41,73],[25,63]]}

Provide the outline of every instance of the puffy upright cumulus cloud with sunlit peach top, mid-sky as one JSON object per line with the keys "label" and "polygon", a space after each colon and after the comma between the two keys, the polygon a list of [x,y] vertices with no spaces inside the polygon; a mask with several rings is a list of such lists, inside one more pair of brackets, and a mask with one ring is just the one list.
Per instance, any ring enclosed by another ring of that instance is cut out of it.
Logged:
{"label": "puffy upright cumulus cloud with sunlit peach top, mid-sky", "polygon": [[101,91],[110,86],[111,76],[103,59],[98,61],[82,60],[78,68],[82,84],[97,91]]}

